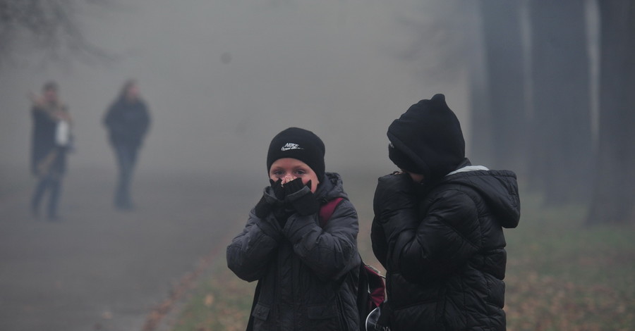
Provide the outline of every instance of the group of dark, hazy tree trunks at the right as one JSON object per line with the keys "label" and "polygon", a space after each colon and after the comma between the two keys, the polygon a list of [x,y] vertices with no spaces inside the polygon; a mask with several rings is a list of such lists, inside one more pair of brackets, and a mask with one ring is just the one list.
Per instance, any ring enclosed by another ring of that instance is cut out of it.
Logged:
{"label": "group of dark, hazy tree trunks at the right", "polygon": [[[589,8],[599,12],[597,82]],[[480,9],[487,77],[472,88],[472,118],[488,134],[473,135],[474,152],[519,170],[546,204],[590,204],[588,224],[634,222],[635,0],[480,0]]]}

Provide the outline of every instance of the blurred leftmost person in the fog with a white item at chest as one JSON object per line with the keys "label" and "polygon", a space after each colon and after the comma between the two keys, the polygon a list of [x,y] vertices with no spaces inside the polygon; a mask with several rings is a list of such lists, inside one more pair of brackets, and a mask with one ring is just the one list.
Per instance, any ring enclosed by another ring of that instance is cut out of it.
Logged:
{"label": "blurred leftmost person in the fog with a white item at chest", "polygon": [[61,180],[66,171],[66,153],[71,147],[71,115],[59,100],[56,82],[47,82],[42,96],[31,95],[33,120],[31,172],[37,185],[31,199],[31,211],[40,217],[40,204],[49,193],[47,217],[57,220]]}

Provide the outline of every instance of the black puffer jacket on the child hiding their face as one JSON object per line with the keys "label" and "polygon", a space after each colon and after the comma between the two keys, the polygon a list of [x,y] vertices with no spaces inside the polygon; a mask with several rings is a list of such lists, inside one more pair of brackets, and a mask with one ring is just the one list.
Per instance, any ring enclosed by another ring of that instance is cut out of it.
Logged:
{"label": "black puffer jacket on the child hiding their face", "polygon": [[393,331],[505,330],[507,255],[516,227],[516,175],[462,168],[421,189],[408,175],[380,178],[371,237],[387,269]]}

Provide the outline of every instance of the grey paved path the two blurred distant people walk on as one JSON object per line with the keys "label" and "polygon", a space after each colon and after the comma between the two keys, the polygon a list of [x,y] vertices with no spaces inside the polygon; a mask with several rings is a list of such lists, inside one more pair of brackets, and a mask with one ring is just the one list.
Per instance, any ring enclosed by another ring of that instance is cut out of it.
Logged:
{"label": "grey paved path the two blurred distant people walk on", "polygon": [[71,172],[59,223],[30,217],[32,182],[0,192],[0,330],[141,330],[200,258],[214,249],[224,258],[228,236],[258,198],[241,197],[253,192],[248,184],[141,174],[138,209],[120,213],[111,208],[113,177]]}

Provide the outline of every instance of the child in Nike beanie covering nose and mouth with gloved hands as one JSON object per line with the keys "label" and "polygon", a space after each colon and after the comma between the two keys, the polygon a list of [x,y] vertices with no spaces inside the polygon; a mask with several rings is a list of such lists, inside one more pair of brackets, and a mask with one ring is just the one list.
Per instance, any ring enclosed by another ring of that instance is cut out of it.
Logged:
{"label": "child in Nike beanie covering nose and mouth with gloved hands", "polygon": [[[227,247],[229,268],[259,282],[248,330],[359,330],[357,213],[324,154],[322,140],[297,127],[270,144],[271,185]],[[320,226],[320,206],[337,198]]]}

